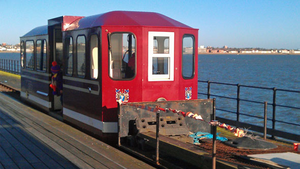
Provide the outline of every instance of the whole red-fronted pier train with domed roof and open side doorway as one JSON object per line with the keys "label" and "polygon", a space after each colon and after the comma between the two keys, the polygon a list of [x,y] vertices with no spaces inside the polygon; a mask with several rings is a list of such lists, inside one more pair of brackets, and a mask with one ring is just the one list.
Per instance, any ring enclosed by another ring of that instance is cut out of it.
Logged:
{"label": "whole red-fronted pier train with domed roof and open side doorway", "polygon": [[20,39],[21,96],[44,109],[59,109],[49,88],[49,66],[57,61],[64,74],[64,120],[102,137],[117,133],[116,100],[197,98],[198,29],[164,15],[62,16]]}

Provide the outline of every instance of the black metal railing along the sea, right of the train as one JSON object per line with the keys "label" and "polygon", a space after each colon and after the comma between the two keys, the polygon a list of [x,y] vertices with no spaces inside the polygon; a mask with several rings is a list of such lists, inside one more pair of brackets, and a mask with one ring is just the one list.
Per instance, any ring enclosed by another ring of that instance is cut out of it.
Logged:
{"label": "black metal railing along the sea, right of the train", "polygon": [[[300,135],[299,134],[293,134],[293,133],[289,133],[289,132],[280,131],[280,130],[276,130],[275,129],[276,122],[285,123],[285,124],[288,124],[288,125],[300,126],[299,123],[292,123],[292,122],[287,122],[287,121],[276,120],[276,108],[277,107],[284,107],[284,108],[290,108],[290,109],[300,110],[299,107],[293,107],[293,106],[288,106],[288,105],[278,105],[278,104],[276,104],[276,92],[277,91],[284,91],[284,92],[300,93],[300,91],[297,91],[297,90],[286,90],[286,89],[277,89],[275,87],[273,87],[273,88],[267,88],[267,87],[248,86],[248,85],[241,85],[241,84],[229,84],[229,83],[220,83],[220,82],[211,82],[211,81],[200,81],[200,80],[198,80],[198,82],[207,83],[207,93],[198,92],[198,94],[207,95],[207,98],[210,98],[211,96],[216,96],[216,97],[221,97],[221,98],[225,98],[225,99],[236,100],[236,111],[233,111],[233,110],[224,110],[224,109],[216,109],[216,110],[219,110],[219,111],[236,114],[236,120],[230,120],[230,119],[225,119],[225,118],[221,118],[221,117],[217,117],[217,120],[224,121],[224,122],[226,122],[226,123],[228,123],[230,125],[234,125],[234,126],[243,126],[244,125],[244,127],[251,127],[251,130],[258,131],[258,132],[263,132],[263,127],[257,126],[257,125],[254,125],[254,124],[250,124],[250,123],[240,122],[239,115],[244,115],[244,116],[253,117],[253,118],[259,118],[259,119],[264,119],[264,117],[241,113],[240,110],[239,110],[240,109],[240,102],[244,101],[244,102],[255,103],[255,104],[264,104],[265,100],[262,100],[261,102],[258,102],[256,100],[241,99],[241,97],[240,97],[240,93],[241,93],[240,89],[241,89],[241,87],[246,87],[246,88],[256,88],[256,89],[263,89],[263,90],[272,90],[273,91],[273,103],[272,104],[269,104],[269,103],[267,104],[267,105],[271,105],[273,107],[272,119],[267,118],[267,120],[271,120],[272,121],[272,129],[268,128],[267,129],[267,134],[271,134],[271,136],[272,136],[273,139],[277,136],[277,137],[281,137],[281,138],[285,138],[285,139],[289,139],[289,140],[300,141]],[[237,89],[236,90],[237,91],[236,92],[236,97],[229,97],[229,96],[224,96],[224,95],[219,95],[219,94],[212,94],[211,93],[211,84],[219,84],[219,85],[226,85],[226,86],[236,86],[236,89]]]}

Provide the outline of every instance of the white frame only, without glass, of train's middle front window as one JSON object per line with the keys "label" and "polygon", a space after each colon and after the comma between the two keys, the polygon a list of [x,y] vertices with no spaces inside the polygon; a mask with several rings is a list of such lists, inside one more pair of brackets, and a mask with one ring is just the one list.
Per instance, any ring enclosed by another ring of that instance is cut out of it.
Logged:
{"label": "white frame only, without glass, of train's middle front window", "polygon": [[[158,54],[153,52],[154,37],[169,37],[169,53]],[[153,75],[153,57],[168,57],[169,67],[167,75]],[[148,32],[148,81],[174,80],[174,32],[149,31]]]}

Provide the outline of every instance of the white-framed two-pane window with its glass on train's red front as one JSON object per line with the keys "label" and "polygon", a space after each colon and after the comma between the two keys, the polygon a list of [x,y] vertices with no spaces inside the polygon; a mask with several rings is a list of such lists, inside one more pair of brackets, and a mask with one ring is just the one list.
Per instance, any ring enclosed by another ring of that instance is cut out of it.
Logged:
{"label": "white-framed two-pane window with its glass on train's red front", "polygon": [[148,32],[148,81],[174,79],[174,32]]}

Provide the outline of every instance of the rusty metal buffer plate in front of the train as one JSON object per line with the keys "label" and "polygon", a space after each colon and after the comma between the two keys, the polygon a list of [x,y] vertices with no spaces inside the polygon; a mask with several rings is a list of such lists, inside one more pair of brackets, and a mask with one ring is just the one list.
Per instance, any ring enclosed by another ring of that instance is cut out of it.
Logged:
{"label": "rusty metal buffer plate in front of the train", "polygon": [[[205,121],[211,121],[213,99],[178,100],[166,102],[127,103],[119,106],[119,137],[134,135],[138,132],[156,132],[156,113],[139,106],[163,109],[170,108],[201,115]],[[210,132],[211,127],[204,121],[184,117],[171,111],[160,112],[160,134],[165,136],[189,134],[189,132]]]}

